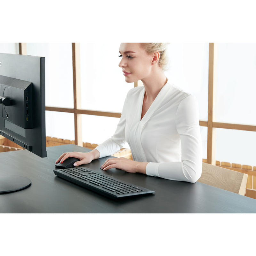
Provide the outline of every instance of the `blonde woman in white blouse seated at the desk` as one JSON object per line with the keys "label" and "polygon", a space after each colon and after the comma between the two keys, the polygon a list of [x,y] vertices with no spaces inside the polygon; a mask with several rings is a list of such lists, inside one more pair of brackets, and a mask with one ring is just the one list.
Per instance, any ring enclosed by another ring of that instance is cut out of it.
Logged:
{"label": "blonde woman in white blouse seated at the desk", "polygon": [[196,182],[202,172],[198,104],[191,94],[168,83],[164,75],[166,43],[121,43],[125,81],[141,80],[125,99],[115,134],[89,153],[63,153],[56,161],[76,157],[74,165],[109,156],[128,142],[133,160],[109,158],[101,169],[141,172],[169,180]]}

